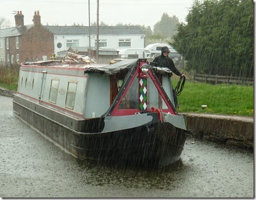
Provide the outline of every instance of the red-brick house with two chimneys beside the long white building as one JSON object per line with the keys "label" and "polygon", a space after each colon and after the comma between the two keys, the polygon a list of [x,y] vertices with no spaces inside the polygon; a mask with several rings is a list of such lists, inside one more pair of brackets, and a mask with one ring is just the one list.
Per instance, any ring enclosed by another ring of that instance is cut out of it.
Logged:
{"label": "red-brick house with two chimneys beside the long white building", "polygon": [[32,25],[24,25],[24,15],[18,11],[14,16],[15,27],[0,29],[0,61],[32,62],[54,52],[53,33],[41,25],[36,11]]}

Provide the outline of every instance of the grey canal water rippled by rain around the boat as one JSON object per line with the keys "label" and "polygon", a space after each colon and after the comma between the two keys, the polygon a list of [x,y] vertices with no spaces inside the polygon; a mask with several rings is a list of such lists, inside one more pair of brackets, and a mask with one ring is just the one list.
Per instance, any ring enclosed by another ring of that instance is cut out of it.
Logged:
{"label": "grey canal water rippled by rain around the boat", "polygon": [[254,153],[188,139],[179,165],[161,170],[90,164],[12,114],[0,96],[1,198],[254,198]]}

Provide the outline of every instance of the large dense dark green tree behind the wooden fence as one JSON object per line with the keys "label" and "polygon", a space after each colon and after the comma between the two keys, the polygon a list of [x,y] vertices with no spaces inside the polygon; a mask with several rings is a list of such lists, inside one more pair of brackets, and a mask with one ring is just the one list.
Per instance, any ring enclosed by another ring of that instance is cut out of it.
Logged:
{"label": "large dense dark green tree behind the wooden fence", "polygon": [[195,1],[169,43],[197,73],[253,77],[254,4],[251,0]]}

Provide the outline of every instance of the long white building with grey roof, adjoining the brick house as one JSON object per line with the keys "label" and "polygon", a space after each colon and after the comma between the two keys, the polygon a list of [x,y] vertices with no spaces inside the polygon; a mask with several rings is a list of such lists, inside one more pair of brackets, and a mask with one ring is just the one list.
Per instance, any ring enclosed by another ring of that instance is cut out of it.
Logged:
{"label": "long white building with grey roof, adjoining the brick house", "polygon": [[[97,27],[83,26],[43,26],[53,33],[55,54],[66,51],[69,47],[95,48],[97,46]],[[90,34],[89,34],[90,32]],[[99,48],[133,49],[144,48],[145,34],[139,26],[104,26],[99,27]]]}

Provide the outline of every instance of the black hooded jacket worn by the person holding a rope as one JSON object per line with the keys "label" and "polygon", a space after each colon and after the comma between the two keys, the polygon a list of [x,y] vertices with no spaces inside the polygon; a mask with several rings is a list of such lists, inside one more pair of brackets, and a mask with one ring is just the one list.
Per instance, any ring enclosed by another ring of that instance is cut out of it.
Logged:
{"label": "black hooded jacket worn by the person holding a rope", "polygon": [[180,73],[180,71],[175,67],[174,65],[174,61],[167,55],[164,56],[164,51],[169,51],[169,48],[167,46],[162,47],[161,52],[162,54],[160,56],[155,57],[155,59],[153,60],[153,62],[156,62],[156,66],[157,67],[167,67],[169,68],[172,72],[175,73],[175,75],[177,76],[181,76],[182,73]]}

